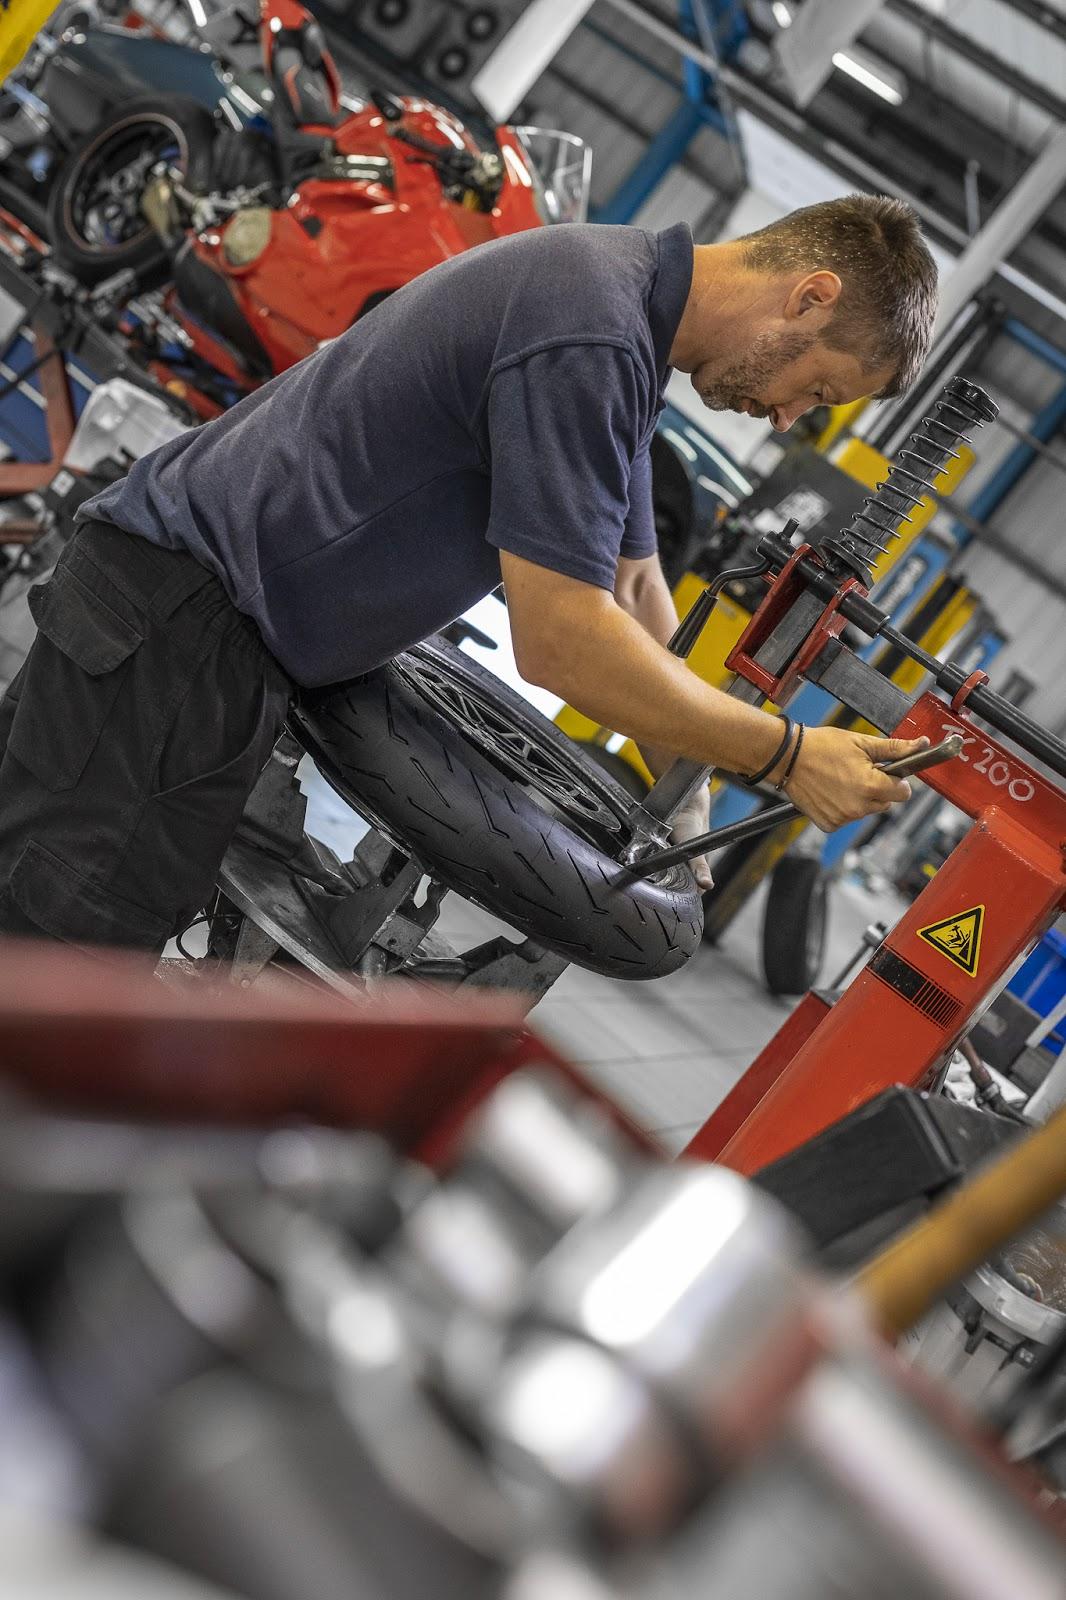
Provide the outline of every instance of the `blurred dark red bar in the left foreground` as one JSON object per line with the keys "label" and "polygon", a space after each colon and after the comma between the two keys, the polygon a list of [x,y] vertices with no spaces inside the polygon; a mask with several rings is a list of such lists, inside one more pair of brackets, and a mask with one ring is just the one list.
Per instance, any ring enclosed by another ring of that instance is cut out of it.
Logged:
{"label": "blurred dark red bar in the left foreground", "polygon": [[395,984],[359,1006],[285,974],[186,990],[142,957],[0,941],[0,1072],[53,1109],[307,1120],[429,1154],[528,1061],[559,1066],[499,994]]}

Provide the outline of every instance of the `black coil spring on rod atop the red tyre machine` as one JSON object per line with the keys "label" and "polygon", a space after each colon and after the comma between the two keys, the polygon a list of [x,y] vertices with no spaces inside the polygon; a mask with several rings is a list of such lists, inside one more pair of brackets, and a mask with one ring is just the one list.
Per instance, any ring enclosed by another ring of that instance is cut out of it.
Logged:
{"label": "black coil spring on rod atop the red tyre machine", "polygon": [[888,541],[911,522],[911,512],[922,504],[948,462],[959,459],[957,446],[997,414],[999,406],[983,389],[965,378],[952,378],[933,413],[896,451],[885,482],[868,494],[847,528],[824,541],[821,549],[829,565],[872,578]]}

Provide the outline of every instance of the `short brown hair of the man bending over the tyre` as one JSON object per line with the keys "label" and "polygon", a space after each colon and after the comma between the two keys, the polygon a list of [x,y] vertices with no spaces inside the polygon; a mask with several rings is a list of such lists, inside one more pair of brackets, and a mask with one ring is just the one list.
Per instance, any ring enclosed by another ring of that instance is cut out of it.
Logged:
{"label": "short brown hair of the man bending over the tyre", "polygon": [[936,317],[936,262],[919,219],[888,195],[845,195],[791,211],[738,240],[763,272],[836,272],[840,299],[824,342],[856,355],[868,373],[893,368],[880,394],[911,387]]}

